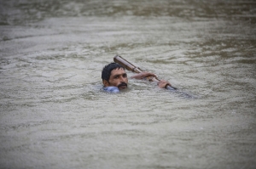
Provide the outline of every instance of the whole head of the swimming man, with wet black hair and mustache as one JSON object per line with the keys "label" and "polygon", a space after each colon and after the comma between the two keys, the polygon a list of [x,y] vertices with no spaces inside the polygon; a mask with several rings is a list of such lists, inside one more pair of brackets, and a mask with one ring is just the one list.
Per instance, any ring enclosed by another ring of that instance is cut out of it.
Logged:
{"label": "whole head of the swimming man, with wet black hair and mustache", "polygon": [[104,87],[125,89],[128,83],[125,68],[117,63],[105,65],[102,70],[102,83]]}

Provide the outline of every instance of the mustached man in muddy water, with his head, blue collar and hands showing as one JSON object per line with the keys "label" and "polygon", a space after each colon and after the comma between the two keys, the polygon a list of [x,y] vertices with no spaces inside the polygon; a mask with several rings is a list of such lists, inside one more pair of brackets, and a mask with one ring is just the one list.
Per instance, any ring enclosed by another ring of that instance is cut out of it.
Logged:
{"label": "mustached man in muddy water, with his head, blue collar and hands showing", "polygon": [[[143,79],[147,76],[156,77],[153,73],[144,71],[135,76],[131,76],[131,78]],[[103,89],[110,93],[119,93],[119,90],[127,88],[128,77],[125,72],[125,68],[117,63],[105,65],[105,67],[102,70],[102,83],[104,86]],[[157,85],[160,88],[164,88],[166,87],[166,85],[171,86],[169,82],[164,80],[160,80],[160,82],[158,82]]]}

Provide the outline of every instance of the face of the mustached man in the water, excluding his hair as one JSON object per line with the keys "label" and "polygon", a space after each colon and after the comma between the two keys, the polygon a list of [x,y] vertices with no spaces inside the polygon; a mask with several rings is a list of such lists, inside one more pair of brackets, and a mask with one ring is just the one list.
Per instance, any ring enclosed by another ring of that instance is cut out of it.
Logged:
{"label": "face of the mustached man in the water, excluding his hair", "polygon": [[115,69],[111,71],[109,80],[103,81],[105,87],[119,87],[120,89],[127,88],[128,78],[124,69]]}

